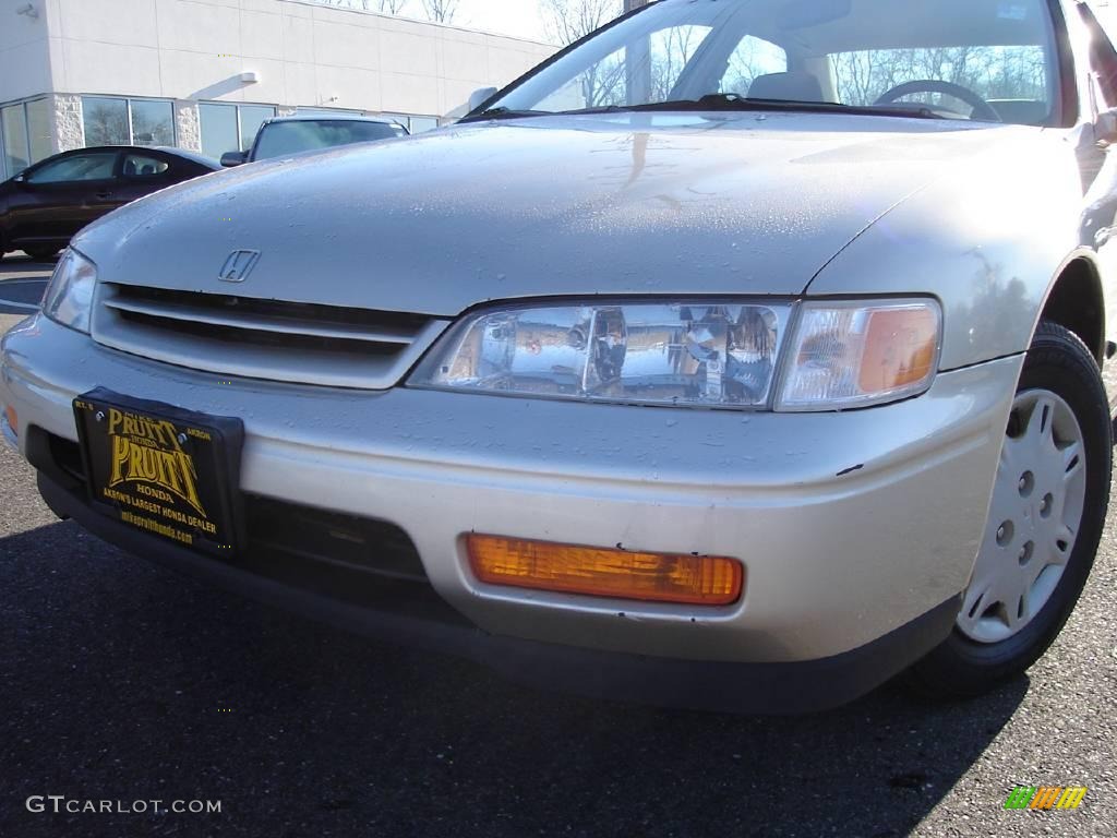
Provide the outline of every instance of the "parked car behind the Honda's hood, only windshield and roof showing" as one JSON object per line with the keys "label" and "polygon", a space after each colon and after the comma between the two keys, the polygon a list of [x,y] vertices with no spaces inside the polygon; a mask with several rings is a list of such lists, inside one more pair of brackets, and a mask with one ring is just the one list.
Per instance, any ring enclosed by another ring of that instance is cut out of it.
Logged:
{"label": "parked car behind the Honda's hood, only windshield and roof showing", "polygon": [[221,165],[255,163],[258,160],[273,160],[407,135],[408,130],[398,122],[372,116],[351,114],[279,116],[268,120],[260,126],[251,149],[222,154]]}

